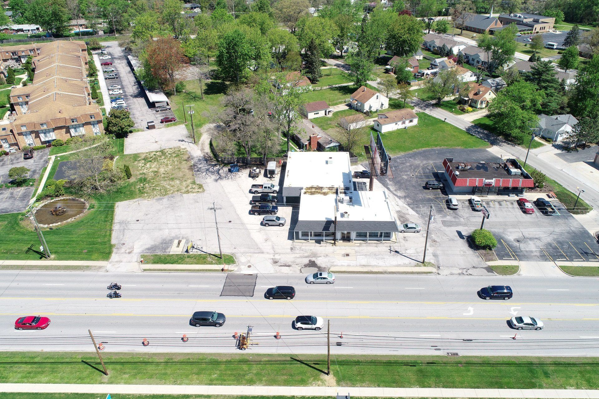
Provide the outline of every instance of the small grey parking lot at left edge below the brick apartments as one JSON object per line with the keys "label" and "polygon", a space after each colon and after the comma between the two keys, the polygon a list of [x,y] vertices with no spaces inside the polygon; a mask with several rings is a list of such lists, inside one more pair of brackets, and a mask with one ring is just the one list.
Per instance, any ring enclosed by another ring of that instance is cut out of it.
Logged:
{"label": "small grey parking lot at left edge below the brick apartments", "polygon": [[[0,157],[0,184],[10,181],[8,171],[11,167],[27,167],[30,178],[38,178],[41,170],[48,164],[48,148],[35,151],[33,159],[23,159],[23,154],[14,154]],[[0,214],[25,211],[29,205],[29,199],[34,194],[35,187],[13,187],[0,189]]]}

